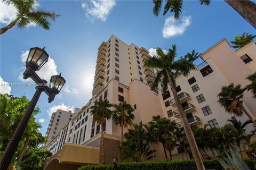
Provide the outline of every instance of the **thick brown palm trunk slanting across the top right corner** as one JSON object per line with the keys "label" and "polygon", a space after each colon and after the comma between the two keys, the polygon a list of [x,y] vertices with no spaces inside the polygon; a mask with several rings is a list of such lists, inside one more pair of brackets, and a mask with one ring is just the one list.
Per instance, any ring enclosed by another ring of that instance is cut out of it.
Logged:
{"label": "thick brown palm trunk slanting across the top right corner", "polygon": [[225,2],[256,29],[256,4],[249,0],[225,0]]}

